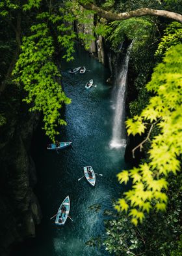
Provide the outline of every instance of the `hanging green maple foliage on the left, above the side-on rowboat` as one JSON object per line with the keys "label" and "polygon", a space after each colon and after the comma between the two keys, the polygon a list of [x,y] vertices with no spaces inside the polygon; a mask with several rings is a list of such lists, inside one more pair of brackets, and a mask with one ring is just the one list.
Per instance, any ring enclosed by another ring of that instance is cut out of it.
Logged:
{"label": "hanging green maple foliage on the left, above the side-on rowboat", "polygon": [[52,140],[58,125],[66,124],[60,119],[60,108],[62,104],[70,103],[66,97],[57,78],[60,73],[53,63],[53,38],[50,35],[47,24],[36,24],[31,27],[32,35],[23,37],[22,52],[14,69],[14,80],[23,84],[27,97],[24,101],[33,103],[31,111],[42,111],[44,114],[45,134]]}

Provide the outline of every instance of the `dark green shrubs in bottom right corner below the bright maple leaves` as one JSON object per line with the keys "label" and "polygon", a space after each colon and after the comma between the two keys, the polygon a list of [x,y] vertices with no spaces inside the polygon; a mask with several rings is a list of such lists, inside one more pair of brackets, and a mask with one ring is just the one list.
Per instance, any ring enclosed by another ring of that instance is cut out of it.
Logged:
{"label": "dark green shrubs in bottom right corner below the bright maple leaves", "polygon": [[[133,175],[137,174],[137,168],[133,171]],[[86,244],[88,246],[105,247],[109,253],[113,255],[181,255],[181,185],[182,174],[175,177],[170,175],[168,182],[170,188],[168,194],[168,208],[166,212],[158,212],[150,210],[146,215],[143,223],[137,223],[137,219],[133,219],[131,223],[128,215],[124,212],[114,212],[105,210],[105,236],[92,238]],[[125,199],[120,199],[120,203],[125,206]],[[114,203],[117,207],[117,204]],[[146,206],[148,208],[148,206]],[[133,210],[134,214],[138,212]],[[140,213],[142,216],[144,213]],[[174,250],[174,251],[172,251]],[[170,253],[170,251],[172,251]],[[178,253],[178,254],[177,254]]]}

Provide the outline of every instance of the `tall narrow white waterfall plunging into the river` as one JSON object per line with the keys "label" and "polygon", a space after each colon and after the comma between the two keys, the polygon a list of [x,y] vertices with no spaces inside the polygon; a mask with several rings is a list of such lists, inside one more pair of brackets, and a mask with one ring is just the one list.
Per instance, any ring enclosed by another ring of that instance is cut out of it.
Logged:
{"label": "tall narrow white waterfall plunging into the river", "polygon": [[113,101],[116,103],[114,107],[114,121],[112,127],[112,140],[110,141],[110,148],[125,147],[125,91],[127,86],[127,70],[129,63],[129,55],[133,41],[127,49],[127,54],[123,62],[122,68],[116,78],[116,85],[114,88]]}

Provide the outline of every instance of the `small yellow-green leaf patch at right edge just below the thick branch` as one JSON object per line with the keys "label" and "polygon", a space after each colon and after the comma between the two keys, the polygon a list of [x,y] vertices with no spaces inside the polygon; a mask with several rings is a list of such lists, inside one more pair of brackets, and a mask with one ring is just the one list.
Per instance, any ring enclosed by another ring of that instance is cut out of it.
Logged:
{"label": "small yellow-green leaf patch at right edge just below the thick branch", "polygon": [[155,56],[162,57],[170,47],[182,42],[182,25],[179,22],[172,22],[164,30],[164,37],[158,46]]}

